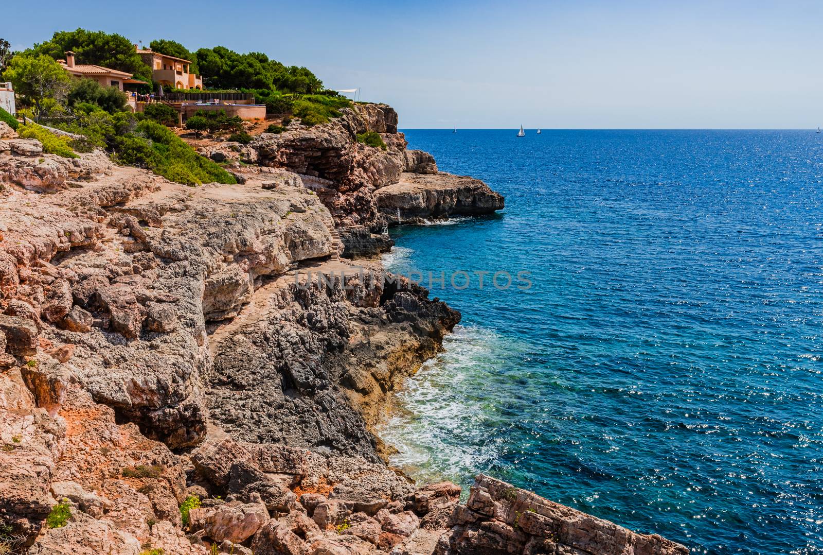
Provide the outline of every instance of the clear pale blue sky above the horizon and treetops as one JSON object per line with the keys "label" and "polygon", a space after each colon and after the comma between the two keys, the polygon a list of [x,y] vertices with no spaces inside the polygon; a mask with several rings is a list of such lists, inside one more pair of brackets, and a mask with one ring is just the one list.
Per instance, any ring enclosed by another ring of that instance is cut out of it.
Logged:
{"label": "clear pale blue sky above the horizon and treetops", "polygon": [[401,128],[823,126],[823,2],[12,0],[15,49],[78,26],[223,45],[362,87]]}

